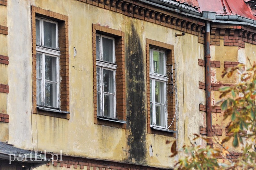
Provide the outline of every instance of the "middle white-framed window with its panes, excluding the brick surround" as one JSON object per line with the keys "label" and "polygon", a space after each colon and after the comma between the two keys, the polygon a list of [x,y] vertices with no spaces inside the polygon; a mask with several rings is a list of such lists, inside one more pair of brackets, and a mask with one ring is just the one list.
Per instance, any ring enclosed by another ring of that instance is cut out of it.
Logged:
{"label": "middle white-framed window with its panes, excluding the brick surround", "polygon": [[96,34],[97,115],[116,118],[115,39]]}

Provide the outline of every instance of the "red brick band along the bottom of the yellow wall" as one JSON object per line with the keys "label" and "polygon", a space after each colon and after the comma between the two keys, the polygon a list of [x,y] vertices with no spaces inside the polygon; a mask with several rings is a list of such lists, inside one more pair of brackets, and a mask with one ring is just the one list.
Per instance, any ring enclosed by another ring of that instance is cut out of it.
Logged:
{"label": "red brick band along the bottom of the yellow wall", "polygon": [[[46,158],[50,159],[52,158],[52,153],[47,154]],[[59,155],[60,158],[60,155]],[[56,164],[55,164],[56,162]],[[66,156],[62,155],[62,161],[56,160],[52,164],[52,162],[46,164],[48,168],[53,169],[53,166],[60,166],[60,167],[67,167],[71,168],[72,165],[74,169],[79,168],[80,169],[115,169],[115,170],[128,170],[128,169],[140,169],[140,170],[158,170],[157,167],[152,166],[143,166],[143,165],[136,165],[132,163],[124,163],[124,162],[116,162],[116,161],[108,161],[108,160],[101,160],[101,159],[89,159],[89,158],[82,158],[82,157],[72,157],[72,156]],[[162,169],[162,168],[161,168]],[[167,168],[166,168],[167,169]]]}

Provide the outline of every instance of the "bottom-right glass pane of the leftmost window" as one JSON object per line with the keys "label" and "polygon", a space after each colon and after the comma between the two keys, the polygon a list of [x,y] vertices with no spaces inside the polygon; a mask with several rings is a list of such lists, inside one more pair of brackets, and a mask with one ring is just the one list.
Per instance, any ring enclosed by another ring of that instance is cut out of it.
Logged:
{"label": "bottom-right glass pane of the leftmost window", "polygon": [[56,83],[45,82],[45,105],[57,107],[57,85]]}

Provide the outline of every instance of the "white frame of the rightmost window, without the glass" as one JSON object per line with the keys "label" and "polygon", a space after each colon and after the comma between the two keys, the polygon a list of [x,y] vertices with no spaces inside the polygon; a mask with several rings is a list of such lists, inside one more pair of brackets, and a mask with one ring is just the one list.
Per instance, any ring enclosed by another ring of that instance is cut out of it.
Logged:
{"label": "white frame of the rightmost window, without the glass", "polygon": [[[150,126],[151,127],[157,127],[157,128],[167,128],[167,97],[166,97],[166,85],[167,85],[167,76],[166,76],[166,55],[165,55],[165,51],[162,51],[162,50],[157,50],[157,49],[154,49],[154,48],[149,48],[149,60],[150,60],[150,68],[149,68],[149,78],[150,80],[152,81],[152,84],[150,86],[150,88],[152,88],[152,109],[153,109],[153,112],[152,112],[152,118],[150,117],[150,119],[152,119],[152,123],[151,124],[151,120],[150,120]],[[164,63],[164,74],[157,74],[157,73],[154,73],[154,58],[153,58],[153,51],[157,51],[157,52],[161,52],[161,53],[164,53],[164,56],[163,56],[163,63]],[[164,83],[164,104],[160,104],[160,103],[156,103],[156,94],[155,94],[155,82],[158,81],[158,82],[163,82]],[[150,101],[151,103],[151,101]],[[164,125],[165,126],[157,126],[156,125],[156,104],[157,105],[164,105]]]}

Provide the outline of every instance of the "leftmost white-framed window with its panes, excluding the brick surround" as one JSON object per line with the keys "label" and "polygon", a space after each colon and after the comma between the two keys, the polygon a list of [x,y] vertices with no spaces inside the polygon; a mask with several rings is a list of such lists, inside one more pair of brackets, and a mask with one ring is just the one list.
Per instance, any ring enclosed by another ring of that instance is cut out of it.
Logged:
{"label": "leftmost white-framed window with its panes, excluding the brick surround", "polygon": [[59,108],[58,23],[36,18],[36,104]]}

